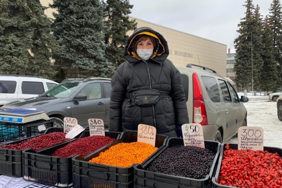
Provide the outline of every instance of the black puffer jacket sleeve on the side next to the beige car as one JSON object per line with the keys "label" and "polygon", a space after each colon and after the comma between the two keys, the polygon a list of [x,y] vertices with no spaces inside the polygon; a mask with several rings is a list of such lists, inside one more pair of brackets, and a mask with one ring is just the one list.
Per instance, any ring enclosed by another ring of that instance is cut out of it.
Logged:
{"label": "black puffer jacket sleeve on the side next to the beige car", "polygon": [[171,63],[171,91],[170,96],[173,101],[176,125],[189,123],[186,98],[181,83],[181,74],[179,70]]}

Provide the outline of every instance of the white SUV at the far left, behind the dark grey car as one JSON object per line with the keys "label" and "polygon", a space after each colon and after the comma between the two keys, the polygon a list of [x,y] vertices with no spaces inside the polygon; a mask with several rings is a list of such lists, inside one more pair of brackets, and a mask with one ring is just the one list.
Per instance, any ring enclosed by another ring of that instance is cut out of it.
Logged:
{"label": "white SUV at the far left, behind the dark grey car", "polygon": [[0,106],[8,102],[36,97],[57,84],[38,76],[0,74]]}

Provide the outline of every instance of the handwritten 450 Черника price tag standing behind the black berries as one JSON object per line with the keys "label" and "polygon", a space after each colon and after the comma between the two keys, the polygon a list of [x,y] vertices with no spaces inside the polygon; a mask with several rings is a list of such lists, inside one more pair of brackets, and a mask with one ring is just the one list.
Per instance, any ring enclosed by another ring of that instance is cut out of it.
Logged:
{"label": "handwritten 450 \u0427\u0435\u0440\u043d\u0438\u043a\u0430 price tag standing behind the black berries", "polygon": [[181,126],[184,146],[205,148],[202,125],[199,123],[183,124]]}

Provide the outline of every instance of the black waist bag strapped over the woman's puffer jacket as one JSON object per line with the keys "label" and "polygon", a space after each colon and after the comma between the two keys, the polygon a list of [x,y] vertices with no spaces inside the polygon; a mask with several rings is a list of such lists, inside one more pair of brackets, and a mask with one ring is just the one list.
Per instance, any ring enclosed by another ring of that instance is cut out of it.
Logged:
{"label": "black waist bag strapped over the woman's puffer jacket", "polygon": [[158,89],[139,89],[128,95],[138,106],[152,106],[162,98],[162,96],[169,96],[168,92],[162,92]]}

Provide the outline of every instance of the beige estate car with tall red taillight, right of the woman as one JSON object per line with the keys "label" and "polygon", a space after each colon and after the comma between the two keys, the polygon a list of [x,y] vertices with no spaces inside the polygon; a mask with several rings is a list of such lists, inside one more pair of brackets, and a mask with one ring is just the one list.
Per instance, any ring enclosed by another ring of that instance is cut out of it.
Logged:
{"label": "beige estate car with tall red taillight, right of the woman", "polygon": [[205,140],[225,142],[236,135],[239,127],[247,126],[247,109],[242,102],[248,102],[248,97],[239,98],[228,80],[199,65],[177,68],[181,73],[190,123],[203,125]]}

